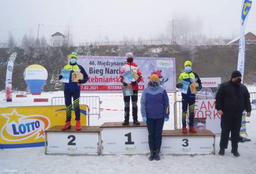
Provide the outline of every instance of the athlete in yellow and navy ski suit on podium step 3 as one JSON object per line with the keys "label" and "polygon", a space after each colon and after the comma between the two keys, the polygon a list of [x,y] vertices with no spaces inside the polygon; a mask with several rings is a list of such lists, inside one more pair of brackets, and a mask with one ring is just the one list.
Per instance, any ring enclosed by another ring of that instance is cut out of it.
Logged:
{"label": "athlete in yellow and navy ski suit on podium step 3", "polygon": [[[192,84],[192,81],[198,83],[198,86],[195,87],[195,89],[198,91],[202,88],[201,80],[198,77],[196,73],[194,73],[192,70],[192,62],[187,60],[184,63],[184,72],[180,74],[178,83],[176,84],[177,88],[182,88],[183,84],[181,84],[182,81],[190,82],[190,85]],[[195,128],[193,126],[194,124],[194,108],[195,108],[195,93],[191,93],[190,88],[187,90],[187,93],[182,93],[182,132],[187,133],[187,105],[189,104],[189,131],[190,132],[196,132]]]}

